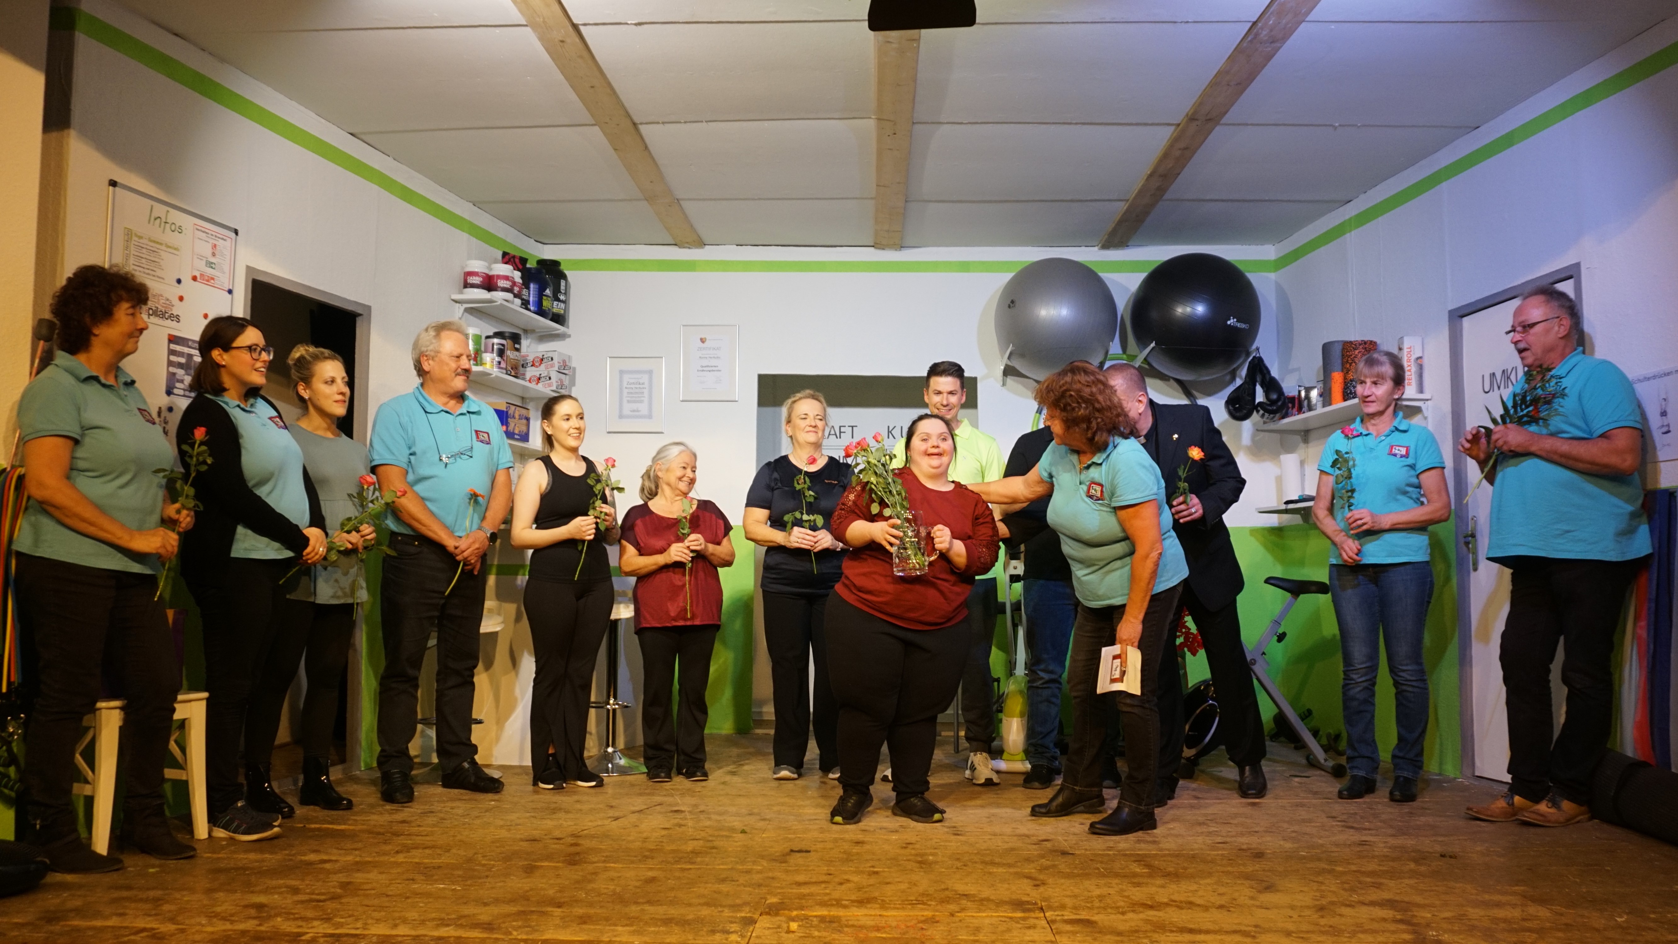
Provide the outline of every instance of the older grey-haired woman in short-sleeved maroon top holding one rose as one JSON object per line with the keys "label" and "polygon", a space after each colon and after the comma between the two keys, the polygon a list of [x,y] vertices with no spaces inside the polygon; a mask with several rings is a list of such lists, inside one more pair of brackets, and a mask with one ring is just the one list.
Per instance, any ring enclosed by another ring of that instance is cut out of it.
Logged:
{"label": "older grey-haired woman in short-sleeved maroon top holding one rose", "polygon": [[[641,501],[624,515],[618,568],[634,577],[634,632],[641,642],[641,738],[646,778],[670,783],[671,770],[706,780],[705,686],[711,646],[723,622],[718,567],[733,563],[733,526],[722,508],[688,498],[700,459],[686,443],[666,443],[641,475]],[[688,537],[681,537],[686,511]],[[676,679],[676,664],[681,679]],[[671,716],[676,682],[680,719]]]}

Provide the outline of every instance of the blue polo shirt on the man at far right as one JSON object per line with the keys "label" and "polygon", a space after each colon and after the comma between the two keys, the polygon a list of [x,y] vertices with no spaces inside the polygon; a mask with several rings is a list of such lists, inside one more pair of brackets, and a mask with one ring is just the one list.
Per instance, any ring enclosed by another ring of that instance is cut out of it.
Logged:
{"label": "blue polo shirt on the man at far right", "polygon": [[[1638,394],[1626,372],[1576,349],[1552,374],[1566,391],[1556,418],[1534,433],[1596,439],[1609,429],[1643,429]],[[1522,389],[1525,377],[1515,382]],[[1503,456],[1492,483],[1492,545],[1487,560],[1561,557],[1634,560],[1649,553],[1638,475],[1591,475],[1540,459]]]}

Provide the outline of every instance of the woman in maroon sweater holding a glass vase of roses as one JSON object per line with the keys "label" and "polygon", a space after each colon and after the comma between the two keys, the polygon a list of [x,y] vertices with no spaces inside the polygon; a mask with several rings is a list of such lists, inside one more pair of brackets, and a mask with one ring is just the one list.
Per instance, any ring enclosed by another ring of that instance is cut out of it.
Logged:
{"label": "woman in maroon sweater holding a glass vase of roses", "polygon": [[898,469],[909,508],[931,525],[936,558],[921,577],[896,577],[896,518],[871,515],[868,486],[856,481],[829,526],[856,548],[827,600],[827,674],[839,699],[839,783],[831,822],[856,825],[874,803],[879,746],[891,746],[891,813],[943,822],[926,798],[938,713],[961,682],[970,635],[967,597],[973,578],[997,562],[997,520],[968,488],[950,481],[955,436],[930,412],[908,433],[908,468]]}

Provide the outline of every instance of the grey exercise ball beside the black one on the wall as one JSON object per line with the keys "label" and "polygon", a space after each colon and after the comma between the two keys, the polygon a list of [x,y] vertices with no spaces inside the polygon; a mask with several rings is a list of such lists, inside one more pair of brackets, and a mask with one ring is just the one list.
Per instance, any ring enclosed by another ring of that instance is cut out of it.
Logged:
{"label": "grey exercise ball beside the black one on the wall", "polygon": [[1072,360],[1099,366],[1119,334],[1119,307],[1096,270],[1040,258],[1014,273],[997,298],[1003,367],[1042,381]]}

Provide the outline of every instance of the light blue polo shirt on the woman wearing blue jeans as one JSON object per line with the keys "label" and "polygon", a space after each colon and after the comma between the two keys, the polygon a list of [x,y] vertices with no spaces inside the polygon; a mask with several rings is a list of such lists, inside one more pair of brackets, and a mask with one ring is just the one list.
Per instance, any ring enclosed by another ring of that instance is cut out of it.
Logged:
{"label": "light blue polo shirt on the woman wearing blue jeans", "polygon": [[[1346,429],[1356,431],[1356,436],[1346,436]],[[1364,508],[1376,515],[1426,505],[1421,496],[1421,473],[1445,468],[1445,456],[1440,454],[1433,431],[1403,416],[1396,416],[1379,436],[1364,429],[1361,416],[1351,426],[1336,429],[1322,444],[1317,471],[1334,475],[1331,463],[1334,453],[1341,451],[1352,456],[1352,510]],[[1334,513],[1344,523],[1346,515],[1339,508]],[[1426,528],[1361,532],[1352,535],[1352,540],[1363,547],[1358,555],[1363,563],[1415,563],[1431,557]],[[1342,563],[1337,547],[1331,545],[1329,562]]]}

